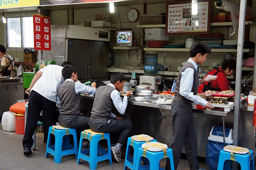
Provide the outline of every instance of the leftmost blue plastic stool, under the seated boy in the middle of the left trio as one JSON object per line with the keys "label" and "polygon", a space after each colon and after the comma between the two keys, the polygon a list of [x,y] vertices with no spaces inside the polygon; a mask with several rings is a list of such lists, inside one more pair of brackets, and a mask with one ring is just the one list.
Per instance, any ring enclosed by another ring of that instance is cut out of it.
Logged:
{"label": "leftmost blue plastic stool, under the seated boy in the middle of the left trio", "polygon": [[[55,144],[51,145],[52,135],[55,135]],[[74,145],[69,143],[69,135],[73,135]],[[63,151],[62,151],[63,149]],[[45,158],[49,153],[54,156],[54,163],[61,163],[61,157],[65,155],[75,154],[77,159],[77,138],[76,129],[56,129],[54,127],[49,128]]]}

